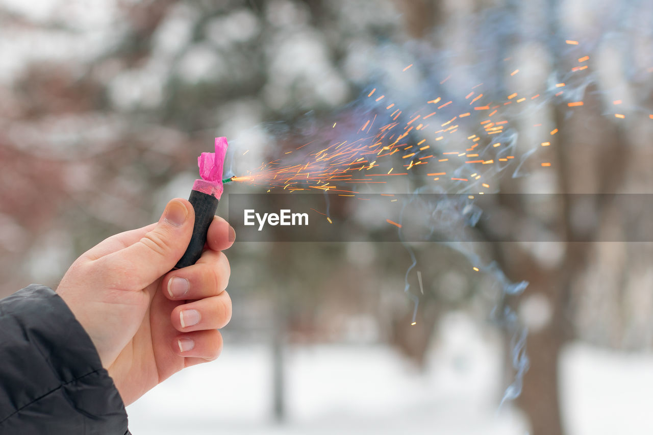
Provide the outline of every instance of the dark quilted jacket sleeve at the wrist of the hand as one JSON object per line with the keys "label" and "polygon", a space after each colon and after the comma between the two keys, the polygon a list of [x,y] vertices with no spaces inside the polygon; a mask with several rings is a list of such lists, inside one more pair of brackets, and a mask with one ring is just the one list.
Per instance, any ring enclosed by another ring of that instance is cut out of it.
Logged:
{"label": "dark quilted jacket sleeve at the wrist of the hand", "polygon": [[42,285],[0,300],[0,434],[129,434],[91,338]]}

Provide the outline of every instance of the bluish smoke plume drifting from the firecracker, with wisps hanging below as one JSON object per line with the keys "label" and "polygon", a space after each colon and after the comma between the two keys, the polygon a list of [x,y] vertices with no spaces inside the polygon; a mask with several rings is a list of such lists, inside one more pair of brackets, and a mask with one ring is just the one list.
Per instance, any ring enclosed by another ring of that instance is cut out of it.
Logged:
{"label": "bluish smoke plume drifting from the firecracker, with wisps hanging below", "polygon": [[[249,184],[272,193],[415,193],[402,204],[396,230],[411,260],[404,292],[413,303],[413,322],[421,292],[411,288],[418,259],[406,232],[424,231],[425,240],[446,233],[454,241],[444,243],[500,287],[492,318],[511,336],[515,371],[502,405],[520,395],[529,366],[528,330],[506,303],[526,291],[528,282],[512,282],[481,253],[475,229],[485,211],[475,197],[503,191],[502,185],[524,193],[528,184],[509,180],[546,174],[555,165],[550,149],[560,133],[552,107],[564,107],[571,118],[584,110],[589,89],[599,89],[607,119],[653,118],[626,91],[632,80],[653,83],[653,50],[643,49],[652,44],[645,25],[652,5],[609,2],[611,8],[582,13],[561,10],[579,3],[509,2],[467,17],[468,33],[444,24],[430,42],[374,46],[359,54],[367,60],[359,74],[367,84],[358,99],[328,115],[308,114],[293,129],[266,126],[268,149],[278,152],[259,167],[232,172],[251,176]],[[597,34],[588,22],[607,30]],[[605,56],[614,47],[622,52],[611,65]],[[616,103],[616,92],[629,104]],[[550,193],[557,188],[537,186]],[[424,202],[420,193],[468,196]],[[328,195],[325,210],[330,216]]]}

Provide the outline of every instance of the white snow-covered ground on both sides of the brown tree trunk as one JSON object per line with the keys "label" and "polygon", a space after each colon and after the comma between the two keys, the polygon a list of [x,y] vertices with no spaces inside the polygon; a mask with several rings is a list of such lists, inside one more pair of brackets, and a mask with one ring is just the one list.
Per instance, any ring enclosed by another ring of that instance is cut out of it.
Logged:
{"label": "white snow-covered ground on both sides of the brown tree trunk", "polygon": [[[496,335],[451,315],[426,372],[383,346],[289,347],[287,420],[272,418],[270,349],[225,344],[218,361],[189,368],[129,406],[135,435],[523,435],[524,417],[498,410]],[[570,346],[562,406],[572,435],[653,433],[653,355]]]}

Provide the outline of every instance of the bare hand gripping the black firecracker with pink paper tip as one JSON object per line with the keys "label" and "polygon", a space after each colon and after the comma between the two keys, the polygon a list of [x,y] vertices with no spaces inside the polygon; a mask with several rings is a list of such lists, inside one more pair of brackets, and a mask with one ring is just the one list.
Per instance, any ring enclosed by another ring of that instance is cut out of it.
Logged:
{"label": "bare hand gripping the black firecracker with pink paper tip", "polygon": [[158,223],[116,234],[79,257],[57,288],[88,332],[125,402],[182,368],[212,361],[217,329],[231,319],[225,291],[229,262],[221,252],[234,230],[214,217],[195,265],[170,271],[193,232],[195,212],[173,199]]}

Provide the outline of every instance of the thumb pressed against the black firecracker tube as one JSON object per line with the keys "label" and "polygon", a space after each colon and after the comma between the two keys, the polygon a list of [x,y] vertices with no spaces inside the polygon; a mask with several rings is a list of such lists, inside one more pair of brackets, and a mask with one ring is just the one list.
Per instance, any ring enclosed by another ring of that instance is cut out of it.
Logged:
{"label": "thumb pressed against the black firecracker tube", "polygon": [[[185,199],[168,202],[157,225],[138,242],[104,257],[123,287],[144,289],[182,258],[193,233],[195,210]],[[122,281],[122,280],[121,280]]]}

